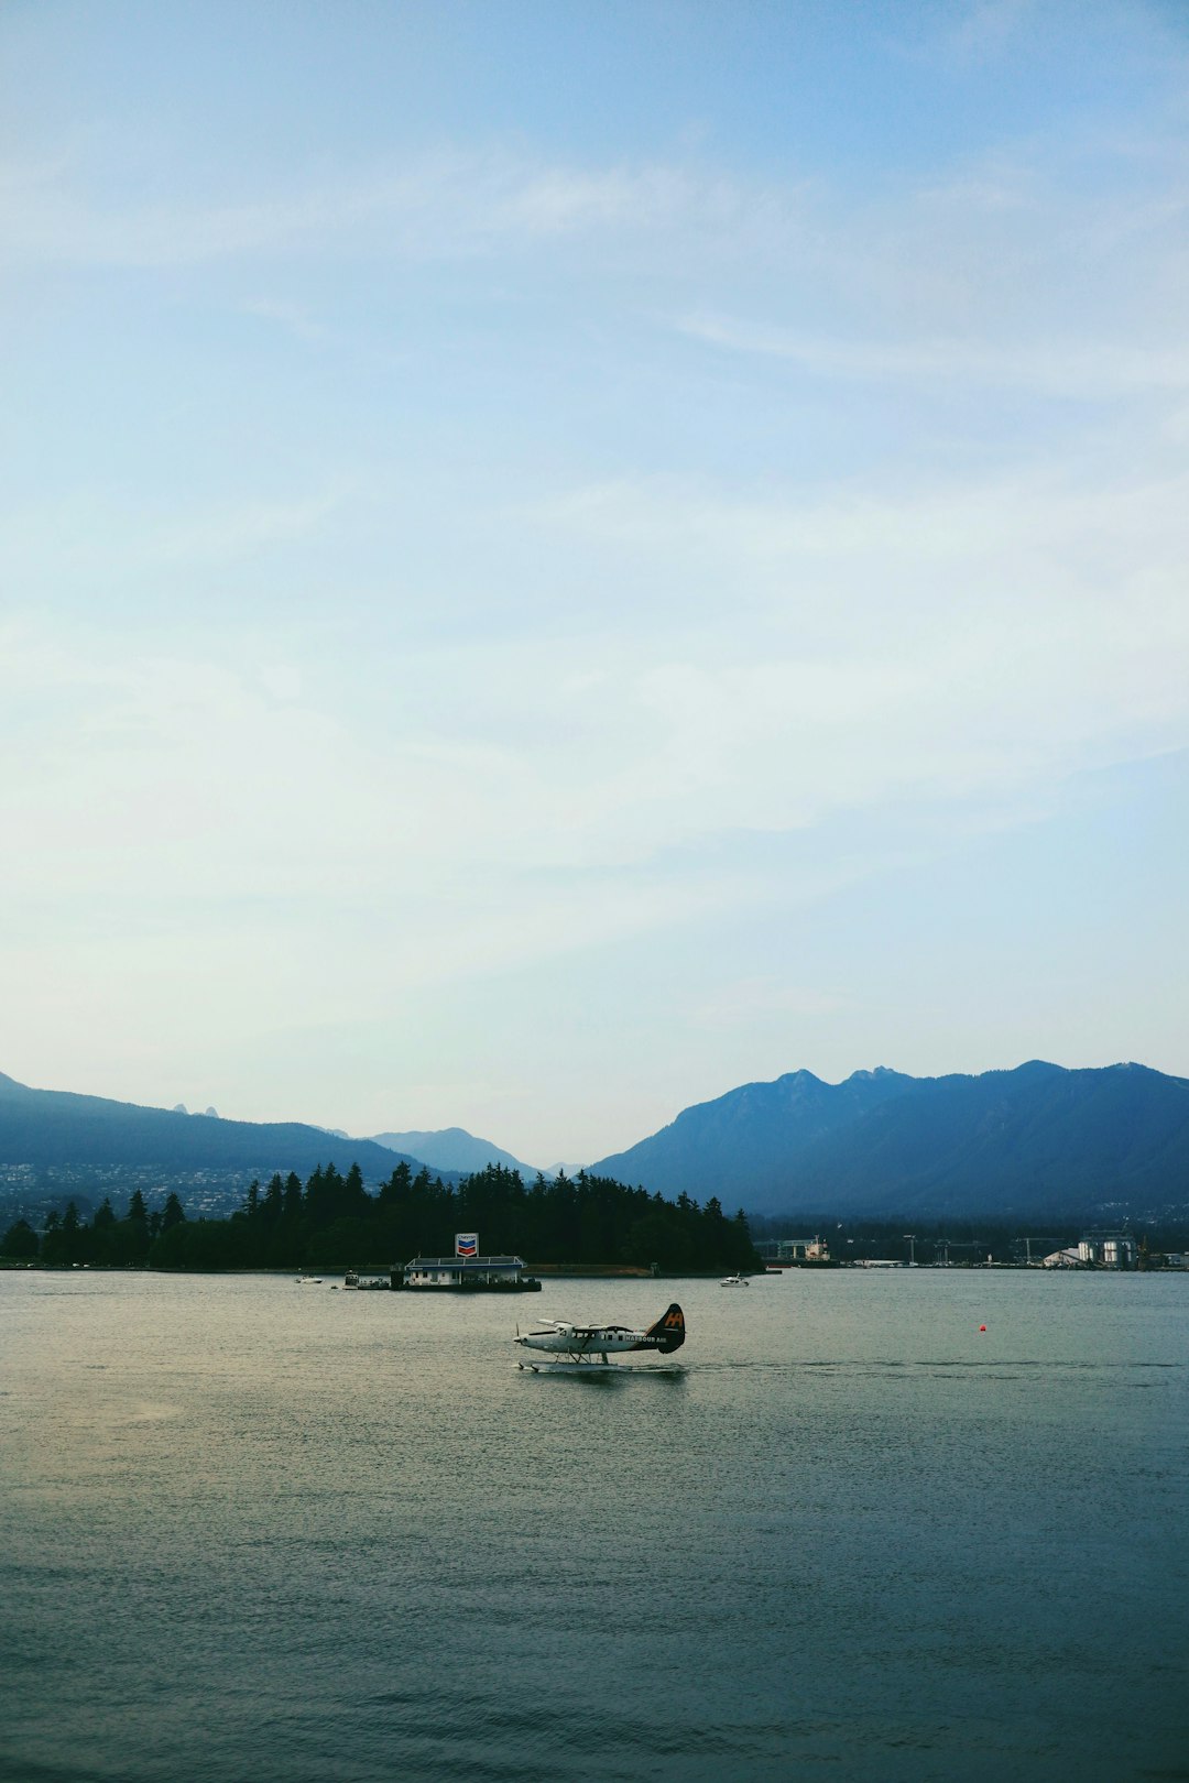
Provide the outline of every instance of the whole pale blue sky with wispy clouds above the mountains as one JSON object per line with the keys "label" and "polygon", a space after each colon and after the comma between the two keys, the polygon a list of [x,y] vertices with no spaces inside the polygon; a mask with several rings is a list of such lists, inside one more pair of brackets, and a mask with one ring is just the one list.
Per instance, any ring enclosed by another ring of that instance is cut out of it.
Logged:
{"label": "whole pale blue sky with wispy clouds above the mountains", "polygon": [[1178,0],[7,0],[0,1070],[1189,1075]]}

